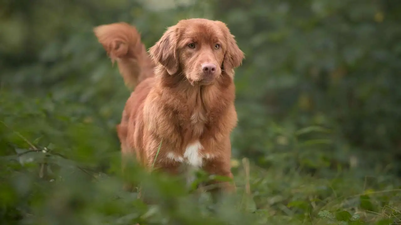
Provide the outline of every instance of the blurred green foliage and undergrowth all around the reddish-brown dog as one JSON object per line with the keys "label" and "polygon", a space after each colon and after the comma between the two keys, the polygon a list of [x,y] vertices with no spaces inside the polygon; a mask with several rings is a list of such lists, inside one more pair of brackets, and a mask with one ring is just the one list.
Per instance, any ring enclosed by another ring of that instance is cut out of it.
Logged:
{"label": "blurred green foliage and undergrowth all around the reddish-brown dog", "polygon": [[[130,92],[92,32],[128,22],[149,48],[197,17],[225,22],[246,55],[239,199],[213,212],[140,168],[159,204],[120,190]],[[1,1],[0,224],[399,222],[400,22],[396,0]]]}

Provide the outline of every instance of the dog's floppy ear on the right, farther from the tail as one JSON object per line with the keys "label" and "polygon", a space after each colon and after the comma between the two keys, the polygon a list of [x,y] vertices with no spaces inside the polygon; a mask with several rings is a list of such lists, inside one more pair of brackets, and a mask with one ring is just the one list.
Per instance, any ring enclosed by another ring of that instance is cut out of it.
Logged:
{"label": "dog's floppy ear on the right, farther from the tail", "polygon": [[244,53],[239,49],[235,37],[231,34],[227,25],[221,21],[217,21],[221,28],[225,31],[226,36],[226,51],[224,54],[223,67],[227,72],[231,72],[232,69],[237,68],[242,64],[242,60],[245,58]]}

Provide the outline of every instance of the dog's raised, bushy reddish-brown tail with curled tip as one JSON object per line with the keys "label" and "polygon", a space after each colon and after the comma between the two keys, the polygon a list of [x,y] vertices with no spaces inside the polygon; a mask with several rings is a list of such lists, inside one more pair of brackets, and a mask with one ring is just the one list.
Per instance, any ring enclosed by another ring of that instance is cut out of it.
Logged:
{"label": "dog's raised, bushy reddish-brown tail with curled tip", "polygon": [[124,82],[131,90],[142,80],[153,76],[154,64],[146,52],[141,36],[134,26],[119,22],[93,29],[111,62],[117,61]]}

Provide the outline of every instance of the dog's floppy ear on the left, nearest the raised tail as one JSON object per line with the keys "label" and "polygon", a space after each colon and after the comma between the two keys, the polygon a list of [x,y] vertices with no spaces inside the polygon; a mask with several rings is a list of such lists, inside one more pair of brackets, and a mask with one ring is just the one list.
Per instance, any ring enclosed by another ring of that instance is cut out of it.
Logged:
{"label": "dog's floppy ear on the left, nearest the raised tail", "polygon": [[177,44],[177,28],[171,26],[164,32],[162,38],[149,49],[154,62],[162,64],[170,75],[178,72]]}

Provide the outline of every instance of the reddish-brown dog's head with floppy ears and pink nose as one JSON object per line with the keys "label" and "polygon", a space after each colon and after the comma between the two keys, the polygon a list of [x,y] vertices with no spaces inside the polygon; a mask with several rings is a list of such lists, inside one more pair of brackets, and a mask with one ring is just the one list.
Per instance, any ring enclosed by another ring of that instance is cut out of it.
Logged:
{"label": "reddish-brown dog's head with floppy ears and pink nose", "polygon": [[222,72],[232,76],[244,58],[223,22],[198,18],[169,27],[150,55],[168,74],[182,74],[192,85],[211,84]]}

